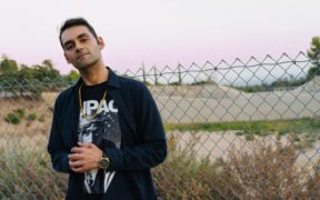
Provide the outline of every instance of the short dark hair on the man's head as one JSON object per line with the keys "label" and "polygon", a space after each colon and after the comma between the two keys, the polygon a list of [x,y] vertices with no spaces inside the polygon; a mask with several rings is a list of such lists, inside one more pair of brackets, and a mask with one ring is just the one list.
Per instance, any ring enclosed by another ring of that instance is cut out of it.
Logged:
{"label": "short dark hair on the man's head", "polygon": [[94,29],[92,28],[92,26],[83,18],[71,18],[64,21],[64,23],[62,24],[62,27],[60,28],[60,34],[59,34],[59,40],[61,43],[61,47],[63,49],[63,43],[61,40],[61,34],[64,30],[72,28],[72,27],[77,27],[77,26],[84,26],[89,29],[89,31],[93,34],[93,37],[96,38],[97,42],[98,42],[98,36],[94,31]]}

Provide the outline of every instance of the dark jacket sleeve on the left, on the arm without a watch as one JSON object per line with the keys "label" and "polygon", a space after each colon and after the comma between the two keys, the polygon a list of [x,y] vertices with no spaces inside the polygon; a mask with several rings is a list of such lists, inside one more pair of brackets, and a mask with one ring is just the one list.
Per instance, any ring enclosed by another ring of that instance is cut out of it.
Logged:
{"label": "dark jacket sleeve on the left, on the arm without a watch", "polygon": [[62,140],[62,132],[61,132],[61,120],[59,111],[61,111],[61,107],[59,107],[59,97],[56,100],[54,109],[53,109],[53,118],[51,124],[51,131],[48,142],[48,152],[51,157],[52,167],[54,170],[59,172],[70,172],[69,170],[69,149],[64,144]]}

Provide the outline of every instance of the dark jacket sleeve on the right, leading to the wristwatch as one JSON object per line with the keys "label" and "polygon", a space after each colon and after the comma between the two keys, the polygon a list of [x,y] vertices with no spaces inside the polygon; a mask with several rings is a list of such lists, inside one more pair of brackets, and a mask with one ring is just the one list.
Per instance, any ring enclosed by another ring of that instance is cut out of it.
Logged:
{"label": "dark jacket sleeve on the right, leading to the wristwatch", "polygon": [[148,88],[143,83],[139,86],[134,91],[133,116],[142,142],[123,149],[104,149],[111,160],[110,171],[147,170],[163,162],[167,157],[166,134],[159,110]]}

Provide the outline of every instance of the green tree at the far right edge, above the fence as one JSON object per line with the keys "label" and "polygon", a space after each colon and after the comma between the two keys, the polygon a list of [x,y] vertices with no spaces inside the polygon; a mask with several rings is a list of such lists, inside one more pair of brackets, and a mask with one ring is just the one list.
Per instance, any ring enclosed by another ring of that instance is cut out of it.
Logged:
{"label": "green tree at the far right edge, above the fence", "polygon": [[311,48],[308,50],[308,57],[311,59],[312,67],[308,71],[307,79],[320,76],[320,37],[313,37]]}

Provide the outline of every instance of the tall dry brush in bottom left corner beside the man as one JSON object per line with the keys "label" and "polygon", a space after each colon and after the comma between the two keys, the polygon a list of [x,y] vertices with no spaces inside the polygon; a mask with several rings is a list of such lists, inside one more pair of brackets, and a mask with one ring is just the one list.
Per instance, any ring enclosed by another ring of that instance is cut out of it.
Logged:
{"label": "tall dry brush in bottom left corner beside the man", "polygon": [[[0,149],[0,199],[63,199],[67,174],[53,172],[48,154]],[[4,173],[6,172],[6,173]]]}

